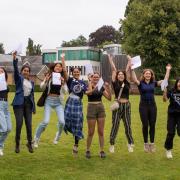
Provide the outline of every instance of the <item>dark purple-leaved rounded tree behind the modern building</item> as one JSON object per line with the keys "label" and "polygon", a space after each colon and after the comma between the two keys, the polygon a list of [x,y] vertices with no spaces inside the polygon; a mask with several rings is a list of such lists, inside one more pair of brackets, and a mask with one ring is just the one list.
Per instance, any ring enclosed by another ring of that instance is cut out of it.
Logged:
{"label": "dark purple-leaved rounded tree behind the modern building", "polygon": [[120,42],[120,34],[114,27],[104,25],[89,35],[89,46],[102,47],[105,42]]}

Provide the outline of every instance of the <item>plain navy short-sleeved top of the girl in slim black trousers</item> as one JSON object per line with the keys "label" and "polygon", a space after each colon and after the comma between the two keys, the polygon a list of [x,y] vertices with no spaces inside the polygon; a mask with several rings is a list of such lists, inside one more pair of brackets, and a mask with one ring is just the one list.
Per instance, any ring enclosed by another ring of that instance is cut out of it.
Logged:
{"label": "plain navy short-sleeved top of the girl in slim black trousers", "polygon": [[141,95],[141,101],[155,102],[154,99],[155,87],[157,87],[157,81],[153,81],[149,83],[146,83],[145,81],[140,81],[138,89]]}

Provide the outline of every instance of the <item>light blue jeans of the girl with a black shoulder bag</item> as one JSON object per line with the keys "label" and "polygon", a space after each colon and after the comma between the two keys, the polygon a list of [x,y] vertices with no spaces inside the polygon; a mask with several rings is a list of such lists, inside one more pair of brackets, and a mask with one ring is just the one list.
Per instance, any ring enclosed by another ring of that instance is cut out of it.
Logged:
{"label": "light blue jeans of the girl with a black shoulder bag", "polygon": [[36,130],[35,139],[39,139],[41,136],[41,133],[45,130],[46,126],[49,123],[50,115],[51,115],[51,109],[55,109],[57,117],[58,117],[58,139],[60,138],[60,135],[64,129],[65,121],[64,121],[64,107],[60,102],[59,97],[52,97],[48,96],[45,101],[44,105],[44,119],[39,124]]}

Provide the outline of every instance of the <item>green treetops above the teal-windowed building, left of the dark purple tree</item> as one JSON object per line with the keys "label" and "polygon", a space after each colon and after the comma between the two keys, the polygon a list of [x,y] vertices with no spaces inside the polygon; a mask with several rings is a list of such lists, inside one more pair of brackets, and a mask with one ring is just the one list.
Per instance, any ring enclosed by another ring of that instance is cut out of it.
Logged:
{"label": "green treetops above the teal-windowed building, left of the dark purple tree", "polygon": [[87,39],[80,35],[76,39],[70,41],[63,41],[61,44],[62,47],[77,47],[77,46],[87,46]]}

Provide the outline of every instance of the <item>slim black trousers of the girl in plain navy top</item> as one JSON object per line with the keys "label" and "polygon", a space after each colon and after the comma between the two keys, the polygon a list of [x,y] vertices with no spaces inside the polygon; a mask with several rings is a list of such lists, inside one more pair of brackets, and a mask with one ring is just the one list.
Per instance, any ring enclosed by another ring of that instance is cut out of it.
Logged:
{"label": "slim black trousers of the girl in plain navy top", "polygon": [[148,143],[148,130],[150,142],[154,143],[157,107],[155,102],[140,102],[139,113],[142,122],[144,143]]}

